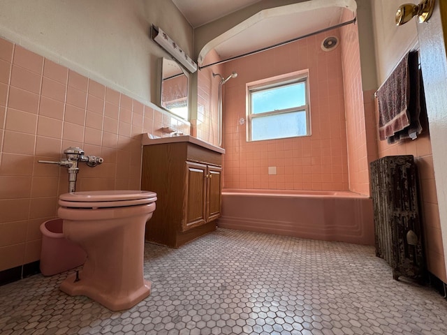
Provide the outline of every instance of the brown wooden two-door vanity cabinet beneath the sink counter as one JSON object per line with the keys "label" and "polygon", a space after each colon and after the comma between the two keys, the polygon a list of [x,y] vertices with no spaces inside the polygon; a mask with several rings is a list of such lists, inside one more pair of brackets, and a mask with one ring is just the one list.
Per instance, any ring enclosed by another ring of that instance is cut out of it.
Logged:
{"label": "brown wooden two-door vanity cabinet beneath the sink counter", "polygon": [[143,147],[141,189],[157,193],[145,239],[178,248],[216,229],[221,154],[190,142]]}

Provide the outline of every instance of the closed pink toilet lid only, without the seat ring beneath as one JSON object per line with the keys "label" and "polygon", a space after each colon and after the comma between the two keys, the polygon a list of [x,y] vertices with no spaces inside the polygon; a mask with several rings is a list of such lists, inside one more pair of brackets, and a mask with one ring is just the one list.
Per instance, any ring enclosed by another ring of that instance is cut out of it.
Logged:
{"label": "closed pink toilet lid only, without the seat ring beneath", "polygon": [[156,193],[151,191],[82,191],[64,193],[59,195],[60,200],[73,202],[98,202],[98,201],[120,201],[154,198]]}

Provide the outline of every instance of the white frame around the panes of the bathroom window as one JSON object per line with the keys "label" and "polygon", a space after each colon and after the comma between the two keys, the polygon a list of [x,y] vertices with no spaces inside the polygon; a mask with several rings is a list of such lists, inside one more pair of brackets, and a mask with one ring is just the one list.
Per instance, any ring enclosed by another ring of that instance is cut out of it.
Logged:
{"label": "white frame around the panes of the bathroom window", "polygon": [[[268,112],[262,112],[254,114],[251,110],[251,96],[252,94],[259,91],[267,91],[268,89],[285,87],[290,84],[298,84],[304,82],[305,84],[305,98],[306,104],[302,106],[295,106],[291,108],[286,108],[284,110],[270,110]],[[296,71],[293,73],[288,73],[287,75],[279,75],[276,77],[266,78],[264,80],[258,80],[256,82],[247,83],[247,142],[258,142],[258,141],[268,141],[268,140],[281,140],[284,138],[293,137],[304,137],[310,136],[311,134],[311,114],[310,114],[310,94],[309,94],[309,70]],[[291,112],[304,111],[306,115],[306,134],[305,135],[294,135],[289,137],[274,137],[269,139],[253,140],[252,139],[252,119],[259,117],[268,117],[277,114],[288,114]]]}

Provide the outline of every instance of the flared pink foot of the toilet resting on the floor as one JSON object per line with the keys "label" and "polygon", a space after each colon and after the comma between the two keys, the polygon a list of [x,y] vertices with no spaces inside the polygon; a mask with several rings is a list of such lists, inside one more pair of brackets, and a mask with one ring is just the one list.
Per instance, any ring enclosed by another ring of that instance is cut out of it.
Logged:
{"label": "flared pink foot of the toilet resting on the floor", "polygon": [[[79,272],[79,276],[82,278],[82,271]],[[79,281],[75,280],[76,274],[69,275],[61,283],[60,290],[71,296],[85,295],[111,311],[129,309],[151,294],[151,282],[145,279],[143,279],[143,285],[140,288],[132,292],[126,290],[121,295],[119,292],[104,292],[103,286],[97,285],[94,281],[89,281],[89,278],[82,278]]]}

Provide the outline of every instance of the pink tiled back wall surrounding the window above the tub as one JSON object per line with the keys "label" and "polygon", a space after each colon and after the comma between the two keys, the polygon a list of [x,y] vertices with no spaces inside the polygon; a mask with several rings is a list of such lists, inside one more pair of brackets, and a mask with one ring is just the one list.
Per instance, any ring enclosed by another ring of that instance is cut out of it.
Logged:
{"label": "pink tiled back wall surrounding the window above the tub", "polygon": [[[224,64],[225,188],[347,191],[348,158],[341,48],[321,50],[319,34]],[[312,136],[247,142],[245,84],[309,69]],[[269,175],[268,167],[277,174]]]}

